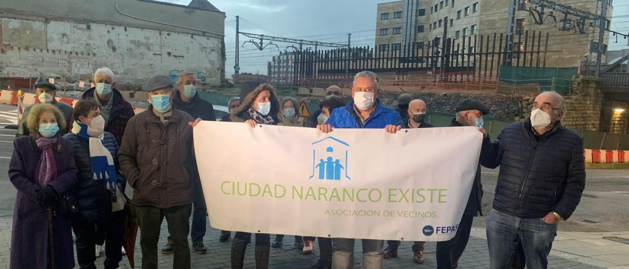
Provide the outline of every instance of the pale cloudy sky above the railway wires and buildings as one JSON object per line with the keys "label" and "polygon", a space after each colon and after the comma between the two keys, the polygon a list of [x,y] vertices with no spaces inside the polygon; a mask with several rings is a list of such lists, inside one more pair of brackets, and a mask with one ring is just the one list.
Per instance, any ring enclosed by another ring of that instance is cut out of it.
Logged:
{"label": "pale cloudy sky above the railway wires and buildings", "polygon": [[[188,4],[190,0],[161,0]],[[352,46],[373,46],[376,33],[378,3],[387,0],[209,0],[225,12],[226,77],[233,74],[235,50],[235,16],[240,31],[331,43],[347,43],[352,33]],[[614,1],[612,30],[629,33],[629,1]],[[278,43],[279,50],[269,46],[260,52],[248,38],[240,36],[240,72],[267,74],[267,62],[290,44]],[[610,50],[629,49],[627,40],[610,39]],[[291,50],[289,48],[289,50]]]}

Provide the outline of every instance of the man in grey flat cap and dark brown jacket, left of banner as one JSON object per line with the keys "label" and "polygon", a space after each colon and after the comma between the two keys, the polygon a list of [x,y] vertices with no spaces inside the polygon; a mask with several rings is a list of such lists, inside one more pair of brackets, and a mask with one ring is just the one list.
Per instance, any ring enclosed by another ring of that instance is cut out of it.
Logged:
{"label": "man in grey flat cap and dark brown jacket, left of banner", "polygon": [[142,231],[142,268],[157,268],[157,241],[164,217],[172,237],[173,267],[190,268],[191,178],[198,176],[198,171],[188,123],[194,119],[172,106],[170,77],[153,76],[146,91],[151,106],[129,119],[118,154],[121,170],[133,188]]}

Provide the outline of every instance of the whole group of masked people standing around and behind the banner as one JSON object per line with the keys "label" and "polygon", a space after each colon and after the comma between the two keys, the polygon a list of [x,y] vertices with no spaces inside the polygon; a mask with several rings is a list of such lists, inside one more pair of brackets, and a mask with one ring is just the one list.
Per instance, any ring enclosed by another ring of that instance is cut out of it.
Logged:
{"label": "whole group of masked people standing around and behind the banner", "polygon": [[[150,107],[142,113],[115,89],[111,70],[94,73],[94,87],[74,109],[55,101],[55,87],[38,82],[40,104],[26,108],[25,122],[9,166],[18,189],[11,239],[11,268],[72,268],[75,234],[80,268],[96,268],[95,248],[105,243],[105,268],[121,261],[125,219],[131,202],[140,226],[142,268],[158,268],[160,226],[165,217],[169,239],[162,253],[174,253],[174,268],[190,268],[192,249],[206,253],[206,205],[194,156],[192,128],[216,120],[212,105],[196,93],[194,72],[182,72],[173,85],[155,75],[145,86]],[[426,102],[403,95],[398,111],[384,106],[378,76],[355,75],[346,104],[337,86],[327,89],[320,109],[304,119],[292,97],[280,100],[272,85],[251,80],[240,96],[228,101],[221,121],[316,128],[377,128],[397,133],[403,128],[431,128]],[[450,126],[476,126],[483,134],[476,177],[454,238],[437,243],[438,268],[457,268],[470,236],[472,221],[482,214],[481,165],[499,165],[493,210],[487,216],[491,268],[546,268],[557,222],[576,209],[585,184],[582,139],[564,128],[565,100],[555,92],[535,98],[531,117],[509,124],[491,141],[483,126],[489,109],[474,99],[456,107]],[[70,125],[72,127],[70,127]],[[421,139],[421,137],[418,137]],[[124,195],[133,189],[132,200]],[[192,216],[192,227],[189,218]],[[48,225],[46,225],[48,224]],[[420,231],[418,230],[418,233]],[[231,267],[243,268],[251,234],[237,231],[231,242]],[[221,231],[219,241],[231,238]],[[268,268],[270,248],[284,235],[255,234],[255,266]],[[295,235],[295,246],[313,253],[315,238]],[[311,268],[353,268],[355,239],[318,238],[319,260]],[[362,267],[382,268],[398,256],[399,241],[362,239]],[[424,242],[413,244],[413,261],[425,262]],[[518,251],[519,250],[519,251]]]}

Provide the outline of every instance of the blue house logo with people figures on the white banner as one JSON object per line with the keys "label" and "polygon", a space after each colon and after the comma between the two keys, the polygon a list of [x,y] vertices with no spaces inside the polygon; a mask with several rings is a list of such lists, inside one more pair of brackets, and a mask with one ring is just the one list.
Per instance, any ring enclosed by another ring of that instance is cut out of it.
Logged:
{"label": "blue house logo with people figures on the white banner", "polygon": [[328,136],[315,141],[313,145],[313,172],[308,179],[341,180],[347,178],[347,156],[349,144],[338,138]]}

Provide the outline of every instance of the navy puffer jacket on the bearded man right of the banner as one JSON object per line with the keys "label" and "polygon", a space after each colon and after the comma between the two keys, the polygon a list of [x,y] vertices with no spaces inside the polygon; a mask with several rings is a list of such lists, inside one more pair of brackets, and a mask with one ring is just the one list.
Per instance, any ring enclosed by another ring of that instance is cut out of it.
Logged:
{"label": "navy puffer jacket on the bearded man right of the banner", "polygon": [[554,211],[568,219],[585,188],[583,139],[561,123],[539,137],[530,119],[509,124],[496,141],[483,141],[481,165],[500,165],[493,208],[511,216]]}

